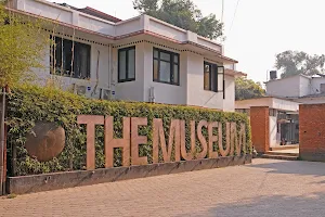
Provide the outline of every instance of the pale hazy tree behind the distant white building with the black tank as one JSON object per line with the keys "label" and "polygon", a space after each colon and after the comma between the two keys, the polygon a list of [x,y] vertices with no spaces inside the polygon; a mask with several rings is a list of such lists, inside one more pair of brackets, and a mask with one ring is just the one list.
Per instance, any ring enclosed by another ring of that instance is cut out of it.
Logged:
{"label": "pale hazy tree behind the distant white building with the black tank", "polygon": [[309,55],[303,51],[284,51],[276,55],[275,67],[282,78],[292,75],[312,76],[324,72],[325,55]]}

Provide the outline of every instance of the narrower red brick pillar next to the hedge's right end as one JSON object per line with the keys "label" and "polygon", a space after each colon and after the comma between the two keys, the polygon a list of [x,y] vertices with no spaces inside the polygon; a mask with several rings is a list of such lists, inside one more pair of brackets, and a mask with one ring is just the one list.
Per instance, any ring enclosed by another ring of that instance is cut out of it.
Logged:
{"label": "narrower red brick pillar next to the hedge's right end", "polygon": [[270,151],[269,107],[250,107],[251,142],[258,153]]}

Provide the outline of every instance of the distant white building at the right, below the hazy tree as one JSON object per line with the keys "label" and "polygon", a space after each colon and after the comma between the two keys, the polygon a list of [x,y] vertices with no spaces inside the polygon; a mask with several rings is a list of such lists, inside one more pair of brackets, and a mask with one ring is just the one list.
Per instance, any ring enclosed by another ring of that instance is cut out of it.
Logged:
{"label": "distant white building at the right, below the hazy tree", "polygon": [[302,104],[325,103],[325,77],[296,75],[271,79],[266,85],[270,97],[286,98]]}

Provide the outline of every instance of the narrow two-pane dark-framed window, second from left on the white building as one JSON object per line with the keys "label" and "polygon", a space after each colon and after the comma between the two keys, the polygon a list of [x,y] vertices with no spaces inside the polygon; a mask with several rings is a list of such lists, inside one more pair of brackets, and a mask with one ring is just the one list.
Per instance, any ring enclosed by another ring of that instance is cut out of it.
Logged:
{"label": "narrow two-pane dark-framed window, second from left on the white building", "polygon": [[118,82],[135,80],[135,47],[118,50]]}

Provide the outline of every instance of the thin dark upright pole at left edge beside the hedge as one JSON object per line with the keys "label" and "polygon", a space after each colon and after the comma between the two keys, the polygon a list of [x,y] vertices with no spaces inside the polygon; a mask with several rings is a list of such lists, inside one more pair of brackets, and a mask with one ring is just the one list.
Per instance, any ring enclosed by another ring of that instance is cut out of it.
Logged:
{"label": "thin dark upright pole at left edge beside the hedge", "polygon": [[0,120],[0,195],[3,195],[4,187],[3,176],[4,176],[4,108],[5,108],[5,88],[2,88],[2,107],[1,107],[1,120]]}

